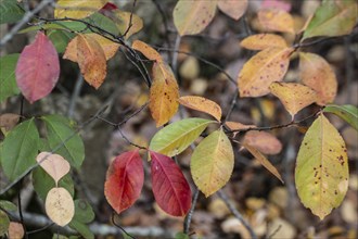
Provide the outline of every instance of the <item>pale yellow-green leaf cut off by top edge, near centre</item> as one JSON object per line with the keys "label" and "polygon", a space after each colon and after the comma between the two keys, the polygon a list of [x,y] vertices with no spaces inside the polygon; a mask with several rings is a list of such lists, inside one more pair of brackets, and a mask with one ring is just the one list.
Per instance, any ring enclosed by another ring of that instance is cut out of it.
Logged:
{"label": "pale yellow-green leaf cut off by top edge, near centre", "polygon": [[215,16],[216,5],[216,0],[179,0],[172,13],[179,35],[194,35],[204,30]]}

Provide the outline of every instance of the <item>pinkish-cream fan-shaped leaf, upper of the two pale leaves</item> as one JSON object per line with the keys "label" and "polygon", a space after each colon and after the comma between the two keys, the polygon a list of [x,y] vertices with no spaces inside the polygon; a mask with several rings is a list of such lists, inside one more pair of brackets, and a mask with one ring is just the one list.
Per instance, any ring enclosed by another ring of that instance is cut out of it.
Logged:
{"label": "pinkish-cream fan-shaped leaf, upper of the two pale leaves", "polygon": [[41,152],[37,155],[36,161],[40,166],[48,173],[56,186],[59,180],[68,174],[71,166],[69,163],[63,159],[61,155],[50,152]]}

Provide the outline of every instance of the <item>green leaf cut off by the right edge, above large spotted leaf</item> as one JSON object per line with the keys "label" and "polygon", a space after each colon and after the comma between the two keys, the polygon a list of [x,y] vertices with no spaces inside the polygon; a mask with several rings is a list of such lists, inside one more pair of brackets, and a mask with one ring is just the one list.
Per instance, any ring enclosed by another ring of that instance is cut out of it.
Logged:
{"label": "green leaf cut off by the right edge, above large spotted leaf", "polygon": [[347,122],[351,127],[358,130],[358,108],[351,104],[336,105],[329,104],[323,109],[323,112],[333,113]]}

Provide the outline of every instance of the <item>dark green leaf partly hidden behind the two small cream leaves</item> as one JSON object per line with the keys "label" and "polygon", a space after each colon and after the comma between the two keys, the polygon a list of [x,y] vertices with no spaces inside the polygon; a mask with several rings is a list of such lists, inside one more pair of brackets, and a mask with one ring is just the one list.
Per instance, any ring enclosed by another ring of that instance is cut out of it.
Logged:
{"label": "dark green leaf partly hidden behind the two small cream leaves", "polygon": [[[56,187],[53,178],[46,173],[42,167],[36,167],[33,171],[33,185],[36,193],[44,201],[48,192]],[[59,181],[59,187],[65,188],[72,197],[75,194],[74,181],[69,174],[66,174]]]}

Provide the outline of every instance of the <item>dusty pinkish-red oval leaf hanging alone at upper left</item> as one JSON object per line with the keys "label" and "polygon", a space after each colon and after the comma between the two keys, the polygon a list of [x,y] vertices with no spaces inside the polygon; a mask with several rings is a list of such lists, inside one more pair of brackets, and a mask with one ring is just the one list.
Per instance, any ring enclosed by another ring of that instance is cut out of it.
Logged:
{"label": "dusty pinkish-red oval leaf hanging alone at upper left", "polygon": [[56,85],[60,76],[57,52],[42,32],[24,48],[15,74],[20,90],[30,103],[48,96]]}

